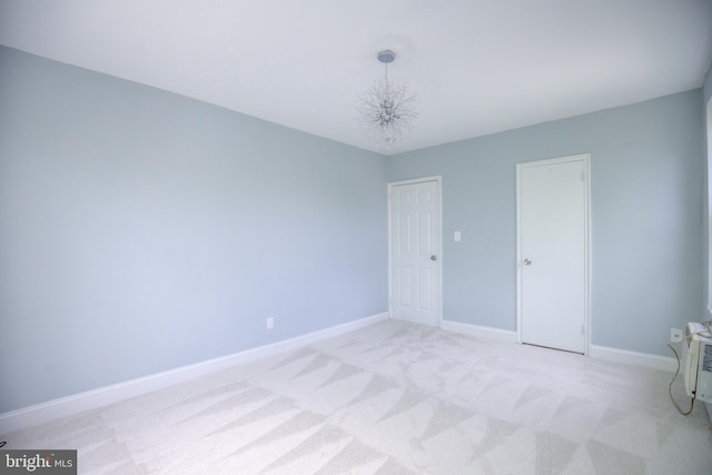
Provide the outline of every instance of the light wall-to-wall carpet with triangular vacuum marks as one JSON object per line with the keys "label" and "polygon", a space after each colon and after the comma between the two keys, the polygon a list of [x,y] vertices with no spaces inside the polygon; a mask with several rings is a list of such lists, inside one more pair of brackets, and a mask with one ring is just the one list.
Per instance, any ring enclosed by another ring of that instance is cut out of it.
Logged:
{"label": "light wall-to-wall carpet with triangular vacuum marks", "polygon": [[710,474],[671,377],[386,321],[0,439],[81,474]]}

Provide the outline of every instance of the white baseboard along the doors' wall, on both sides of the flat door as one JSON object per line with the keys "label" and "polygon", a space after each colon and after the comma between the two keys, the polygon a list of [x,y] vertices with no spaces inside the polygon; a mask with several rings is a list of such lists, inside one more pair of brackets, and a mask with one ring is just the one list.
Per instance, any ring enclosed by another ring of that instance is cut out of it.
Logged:
{"label": "white baseboard along the doors' wall, on both sides of the flat door", "polygon": [[[516,331],[503,330],[500,328],[482,327],[478,325],[463,324],[461,321],[443,320],[441,328],[448,331],[464,335],[478,336],[496,339],[503,343],[516,344]],[[626,349],[610,348],[606,346],[591,345],[589,357],[611,363],[642,366],[646,368],[661,369],[674,373],[678,368],[678,360],[673,357],[650,355],[647,353],[629,352]]]}

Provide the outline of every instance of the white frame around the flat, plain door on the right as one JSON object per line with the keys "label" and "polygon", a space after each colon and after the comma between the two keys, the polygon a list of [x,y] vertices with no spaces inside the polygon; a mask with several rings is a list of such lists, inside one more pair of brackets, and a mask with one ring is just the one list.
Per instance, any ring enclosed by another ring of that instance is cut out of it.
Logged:
{"label": "white frame around the flat, plain door on the right", "polygon": [[522,216],[521,216],[521,170],[528,167],[558,165],[570,161],[583,161],[584,168],[584,355],[591,349],[591,155],[516,164],[516,343],[522,344]]}

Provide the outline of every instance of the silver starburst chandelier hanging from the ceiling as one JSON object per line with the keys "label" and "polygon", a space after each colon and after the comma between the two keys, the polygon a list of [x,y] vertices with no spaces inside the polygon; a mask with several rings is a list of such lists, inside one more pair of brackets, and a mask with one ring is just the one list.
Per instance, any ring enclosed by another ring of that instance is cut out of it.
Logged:
{"label": "silver starburst chandelier hanging from the ceiling", "polygon": [[385,146],[386,149],[403,141],[413,131],[413,122],[418,118],[415,109],[417,96],[409,93],[405,83],[388,79],[388,63],[395,59],[396,53],[390,50],[378,53],[378,61],[384,63],[386,73],[358,96],[357,107],[366,138],[376,147]]}

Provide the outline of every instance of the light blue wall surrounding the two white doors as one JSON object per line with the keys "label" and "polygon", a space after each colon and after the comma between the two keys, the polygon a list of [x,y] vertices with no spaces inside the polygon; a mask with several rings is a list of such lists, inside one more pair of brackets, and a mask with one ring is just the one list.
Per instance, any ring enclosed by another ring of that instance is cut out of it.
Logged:
{"label": "light blue wall surrounding the two white doors", "polygon": [[694,90],[389,157],[392,181],[443,176],[444,318],[516,329],[515,164],[591,154],[592,343],[670,356],[670,328],[705,301],[702,102]]}

